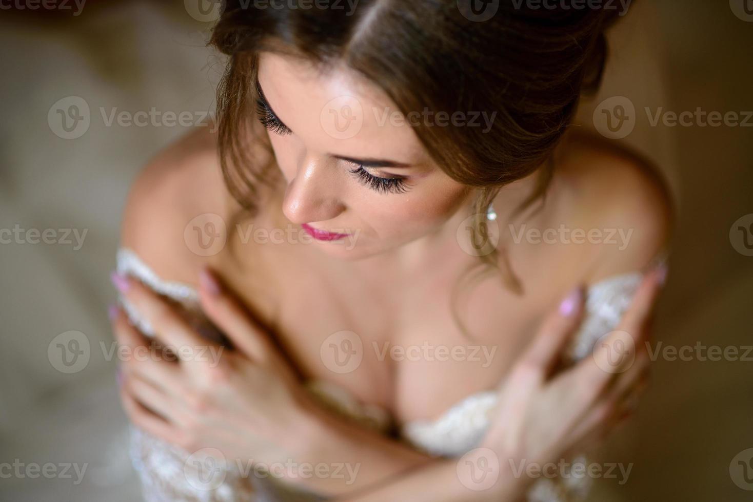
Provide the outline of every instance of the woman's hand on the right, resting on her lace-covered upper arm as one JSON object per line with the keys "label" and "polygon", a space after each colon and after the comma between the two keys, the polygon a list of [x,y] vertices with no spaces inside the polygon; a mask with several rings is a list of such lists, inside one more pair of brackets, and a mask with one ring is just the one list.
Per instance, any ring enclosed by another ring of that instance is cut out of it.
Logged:
{"label": "woman's hand on the right, resting on her lace-covered upper arm", "polygon": [[558,370],[580,324],[582,292],[562,301],[502,384],[483,446],[500,462],[542,466],[602,439],[629,416],[647,382],[645,341],[664,274],[657,268],[646,275],[620,325],[599,340],[593,355]]}

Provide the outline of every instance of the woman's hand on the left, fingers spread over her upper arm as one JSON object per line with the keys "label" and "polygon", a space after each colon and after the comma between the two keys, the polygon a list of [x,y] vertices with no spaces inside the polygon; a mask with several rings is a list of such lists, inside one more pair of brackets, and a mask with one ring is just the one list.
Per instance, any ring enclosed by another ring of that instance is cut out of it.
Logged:
{"label": "woman's hand on the left, fingers spread over her upper arm", "polygon": [[201,337],[138,280],[115,275],[113,281],[177,355],[166,361],[122,310],[113,313],[118,343],[130,354],[151,354],[127,358],[121,370],[120,395],[133,423],[191,452],[219,449],[228,461],[291,457],[296,434],[305,431],[305,391],[267,333],[211,272],[200,276],[201,306],[234,349]]}

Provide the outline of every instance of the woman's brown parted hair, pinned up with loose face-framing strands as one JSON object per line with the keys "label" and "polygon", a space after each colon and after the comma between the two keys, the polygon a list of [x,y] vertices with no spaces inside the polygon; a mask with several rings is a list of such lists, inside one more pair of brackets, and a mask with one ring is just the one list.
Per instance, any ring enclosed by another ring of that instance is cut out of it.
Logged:
{"label": "woman's brown parted hair, pinned up with loose face-framing strands", "polygon": [[[273,50],[324,68],[344,62],[383,89],[402,113],[496,112],[488,131],[413,126],[441,169],[480,189],[477,226],[486,225],[486,207],[501,186],[537,169],[537,186],[518,212],[543,200],[554,147],[581,95],[599,87],[607,55],[604,31],[617,12],[563,5],[569,2],[532,8],[525,0],[500,0],[498,11],[479,21],[462,12],[463,2],[360,0],[353,11],[343,2],[341,9],[316,2],[291,8],[289,0],[285,6],[275,0],[225,2],[210,43],[230,56],[217,102],[221,165],[233,198],[254,213],[258,185],[276,180],[275,166],[255,165],[244,144],[255,137],[257,55]],[[485,271],[496,271],[509,288],[522,292],[504,249],[481,256],[479,265],[489,265]],[[456,320],[462,326],[457,315]]]}

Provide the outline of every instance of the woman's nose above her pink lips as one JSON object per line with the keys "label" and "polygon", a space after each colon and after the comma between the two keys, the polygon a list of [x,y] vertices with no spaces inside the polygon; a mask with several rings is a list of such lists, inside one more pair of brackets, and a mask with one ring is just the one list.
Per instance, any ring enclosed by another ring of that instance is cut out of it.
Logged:
{"label": "woman's nose above her pink lips", "polygon": [[324,222],[342,213],[337,169],[326,159],[306,156],[285,189],[282,213],[291,222]]}

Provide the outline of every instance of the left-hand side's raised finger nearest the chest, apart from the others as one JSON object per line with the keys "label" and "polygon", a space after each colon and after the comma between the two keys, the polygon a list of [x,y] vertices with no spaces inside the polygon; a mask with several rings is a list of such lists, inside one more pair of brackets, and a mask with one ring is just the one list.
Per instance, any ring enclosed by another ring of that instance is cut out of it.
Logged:
{"label": "left-hand side's raised finger nearest the chest, apart from the others", "polygon": [[276,354],[267,331],[258,325],[237,298],[209,268],[199,276],[200,301],[206,315],[218,325],[236,349],[255,361]]}

